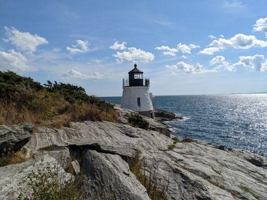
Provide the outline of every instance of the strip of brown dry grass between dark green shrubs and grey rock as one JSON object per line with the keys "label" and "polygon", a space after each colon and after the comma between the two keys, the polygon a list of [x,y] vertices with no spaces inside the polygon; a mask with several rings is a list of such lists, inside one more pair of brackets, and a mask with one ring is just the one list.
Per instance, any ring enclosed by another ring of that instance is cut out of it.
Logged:
{"label": "strip of brown dry grass between dark green shrubs and grey rock", "polygon": [[54,104],[43,111],[32,111],[27,107],[19,108],[12,103],[0,103],[0,124],[6,125],[32,122],[36,125],[61,128],[69,127],[71,121],[114,121],[116,118],[118,118],[118,114],[115,110],[103,111],[96,105],[86,103],[70,104],[60,100],[59,104]]}

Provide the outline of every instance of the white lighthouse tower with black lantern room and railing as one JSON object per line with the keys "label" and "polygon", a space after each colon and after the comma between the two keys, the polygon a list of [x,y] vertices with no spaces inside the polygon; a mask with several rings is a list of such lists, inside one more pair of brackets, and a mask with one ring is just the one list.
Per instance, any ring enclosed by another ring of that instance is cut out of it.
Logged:
{"label": "white lighthouse tower with black lantern room and railing", "polygon": [[132,109],[144,116],[154,118],[152,93],[149,93],[149,78],[143,78],[143,71],[134,68],[129,72],[129,79],[123,78],[121,107]]}

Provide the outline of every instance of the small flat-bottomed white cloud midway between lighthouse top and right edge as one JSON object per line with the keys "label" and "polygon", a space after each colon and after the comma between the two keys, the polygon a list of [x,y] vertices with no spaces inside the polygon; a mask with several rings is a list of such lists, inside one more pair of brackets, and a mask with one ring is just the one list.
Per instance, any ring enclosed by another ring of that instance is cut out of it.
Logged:
{"label": "small flat-bottomed white cloud midway between lighthouse top and right edge", "polygon": [[[175,65],[165,65],[167,68],[177,69],[184,73],[199,73],[204,72],[203,66],[199,63],[196,65],[187,64],[184,61],[177,62]],[[176,74],[176,73],[175,73]]]}

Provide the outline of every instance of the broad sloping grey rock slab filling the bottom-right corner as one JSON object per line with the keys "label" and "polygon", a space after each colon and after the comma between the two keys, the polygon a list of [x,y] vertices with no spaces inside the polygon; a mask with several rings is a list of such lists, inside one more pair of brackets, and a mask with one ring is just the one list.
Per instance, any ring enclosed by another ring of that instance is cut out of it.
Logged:
{"label": "broad sloping grey rock slab filling the bottom-right corner", "polygon": [[176,143],[173,150],[148,153],[145,162],[147,173],[156,170],[162,184],[169,182],[170,199],[267,199],[265,167],[209,144]]}

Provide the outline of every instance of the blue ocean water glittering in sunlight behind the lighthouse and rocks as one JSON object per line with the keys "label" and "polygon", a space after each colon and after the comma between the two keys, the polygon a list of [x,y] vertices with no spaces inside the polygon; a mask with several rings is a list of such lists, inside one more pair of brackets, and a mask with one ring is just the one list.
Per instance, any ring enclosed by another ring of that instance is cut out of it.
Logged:
{"label": "blue ocean water glittering in sunlight behind the lighthouse and rocks", "polygon": [[[121,97],[101,97],[120,104]],[[155,96],[153,106],[183,120],[169,121],[179,138],[244,148],[267,156],[267,93]]]}

